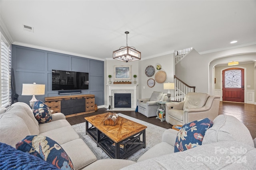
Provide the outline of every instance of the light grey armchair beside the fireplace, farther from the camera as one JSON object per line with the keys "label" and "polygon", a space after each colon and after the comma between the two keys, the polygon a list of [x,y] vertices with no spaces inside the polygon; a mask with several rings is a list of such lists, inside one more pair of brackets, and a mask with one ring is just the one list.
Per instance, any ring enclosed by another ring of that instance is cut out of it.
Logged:
{"label": "light grey armchair beside the fireplace, farther from the camera", "polygon": [[146,117],[156,116],[156,110],[158,109],[156,102],[166,100],[167,94],[163,94],[163,92],[153,92],[150,98],[138,100],[138,112]]}

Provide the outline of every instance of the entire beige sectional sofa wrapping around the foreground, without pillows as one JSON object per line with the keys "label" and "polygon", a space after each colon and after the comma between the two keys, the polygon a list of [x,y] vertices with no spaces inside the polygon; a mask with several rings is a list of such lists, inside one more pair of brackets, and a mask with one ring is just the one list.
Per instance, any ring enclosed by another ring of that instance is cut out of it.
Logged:
{"label": "entire beige sectional sofa wrapping around the foreground, without pillows", "polygon": [[[62,113],[49,123],[36,121],[27,104],[15,103],[0,110],[0,142],[15,147],[27,135],[44,135],[58,142],[76,170],[156,170],[156,169],[255,169],[256,139],[238,119],[218,115],[206,131],[202,145],[174,153],[178,131],[167,129],[162,142],[146,151],[137,162],[122,159],[97,160]],[[43,161],[43,160],[42,160]]]}

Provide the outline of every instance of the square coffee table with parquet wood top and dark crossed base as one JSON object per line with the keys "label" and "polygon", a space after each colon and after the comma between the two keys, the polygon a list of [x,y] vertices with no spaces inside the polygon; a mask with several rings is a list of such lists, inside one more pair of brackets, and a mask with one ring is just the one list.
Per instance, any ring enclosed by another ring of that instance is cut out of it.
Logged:
{"label": "square coffee table with parquet wood top and dark crossed base", "polygon": [[104,150],[110,158],[119,159],[126,159],[137,150],[146,148],[146,126],[121,116],[116,125],[104,125],[109,114],[84,117],[86,134],[97,143],[97,147]]}

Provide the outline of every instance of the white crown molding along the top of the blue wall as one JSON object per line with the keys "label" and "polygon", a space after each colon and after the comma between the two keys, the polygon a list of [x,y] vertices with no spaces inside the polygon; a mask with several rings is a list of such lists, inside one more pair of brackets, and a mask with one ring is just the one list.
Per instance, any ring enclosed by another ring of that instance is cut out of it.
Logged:
{"label": "white crown molding along the top of the blue wall", "polygon": [[35,49],[46,50],[46,51],[52,51],[52,52],[62,53],[62,54],[67,54],[67,55],[74,55],[74,56],[84,57],[84,58],[88,58],[88,59],[94,59],[94,60],[104,61],[104,59],[100,59],[100,58],[97,58],[97,57],[92,57],[92,56],[88,56],[88,55],[82,55],[82,54],[78,54],[78,53],[71,53],[71,52],[68,52],[68,51],[62,51],[62,50],[57,50],[57,49],[51,49],[51,48],[47,48],[47,47],[41,47],[41,46],[31,45],[31,44],[26,44],[26,43],[20,43],[20,42],[17,42],[17,41],[15,41],[15,42],[12,43],[12,44],[14,44],[14,45],[20,45],[20,46],[24,46],[24,47],[35,48]]}

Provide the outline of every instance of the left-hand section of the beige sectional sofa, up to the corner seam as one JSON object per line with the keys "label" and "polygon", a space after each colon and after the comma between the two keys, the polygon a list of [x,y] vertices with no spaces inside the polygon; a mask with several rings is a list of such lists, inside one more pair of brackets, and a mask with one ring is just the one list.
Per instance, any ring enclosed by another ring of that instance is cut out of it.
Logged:
{"label": "left-hand section of the beige sectional sofa, up to the corner seam", "polygon": [[56,141],[66,151],[74,169],[79,170],[96,161],[96,156],[79,138],[62,113],[52,114],[52,121],[38,123],[32,109],[17,102],[0,111],[0,142],[15,148],[28,135],[43,135]]}

